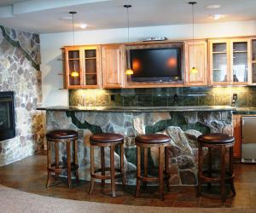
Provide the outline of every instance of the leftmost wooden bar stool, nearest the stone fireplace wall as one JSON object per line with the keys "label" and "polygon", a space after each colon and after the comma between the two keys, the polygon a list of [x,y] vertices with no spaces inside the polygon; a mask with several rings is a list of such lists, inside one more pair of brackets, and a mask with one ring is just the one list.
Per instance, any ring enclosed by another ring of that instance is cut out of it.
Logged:
{"label": "leftmost wooden bar stool, nearest the stone fireplace wall", "polygon": [[[51,183],[51,173],[55,173],[55,178],[62,172],[67,172],[68,187],[72,187],[71,184],[71,172],[75,171],[77,181],[79,181],[79,164],[77,158],[77,140],[78,133],[75,130],[52,130],[46,134],[47,139],[47,171],[48,178],[46,187],[49,187]],[[66,143],[67,149],[67,163],[60,162],[59,159],[59,143]],[[71,163],[71,143],[73,142],[73,162]],[[51,143],[54,144],[54,158],[55,163],[51,162]]]}

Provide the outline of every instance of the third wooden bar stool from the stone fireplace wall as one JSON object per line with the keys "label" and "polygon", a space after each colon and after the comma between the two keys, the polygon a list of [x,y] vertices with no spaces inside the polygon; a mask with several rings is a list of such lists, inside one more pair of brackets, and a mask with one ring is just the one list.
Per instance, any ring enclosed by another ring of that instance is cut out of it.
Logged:
{"label": "third wooden bar stool from the stone fireplace wall", "polygon": [[[160,199],[164,200],[164,181],[166,181],[166,187],[168,192],[170,191],[169,186],[169,152],[167,147],[170,146],[170,137],[163,134],[151,134],[151,135],[139,135],[135,138],[137,145],[137,187],[135,197],[139,193],[140,181],[143,181],[144,186],[147,186],[147,182],[158,181],[160,186]],[[158,177],[148,177],[148,148],[157,147],[159,149],[159,169]],[[143,176],[141,169],[141,149],[143,149]],[[165,165],[165,170],[163,166]],[[164,176],[165,175],[165,176]]]}

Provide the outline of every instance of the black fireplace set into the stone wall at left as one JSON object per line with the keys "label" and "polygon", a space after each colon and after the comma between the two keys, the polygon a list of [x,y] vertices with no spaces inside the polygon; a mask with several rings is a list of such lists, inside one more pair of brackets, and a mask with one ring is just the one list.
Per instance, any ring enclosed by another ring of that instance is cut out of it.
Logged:
{"label": "black fireplace set into the stone wall at left", "polygon": [[15,137],[15,93],[0,92],[0,141]]}

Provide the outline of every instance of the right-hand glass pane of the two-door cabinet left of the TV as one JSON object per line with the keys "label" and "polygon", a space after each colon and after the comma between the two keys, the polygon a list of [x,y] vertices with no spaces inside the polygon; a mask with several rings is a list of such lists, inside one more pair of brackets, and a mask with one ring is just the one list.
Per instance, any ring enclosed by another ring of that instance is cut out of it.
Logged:
{"label": "right-hand glass pane of the two-door cabinet left of the TV", "polygon": [[84,49],[84,83],[97,85],[96,49]]}

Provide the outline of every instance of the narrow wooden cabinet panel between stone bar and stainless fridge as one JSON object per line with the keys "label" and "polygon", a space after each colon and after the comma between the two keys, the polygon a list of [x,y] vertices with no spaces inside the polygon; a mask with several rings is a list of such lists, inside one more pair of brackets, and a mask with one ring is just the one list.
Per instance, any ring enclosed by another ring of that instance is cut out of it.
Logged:
{"label": "narrow wooden cabinet panel between stone bar and stainless fridge", "polygon": [[241,115],[233,115],[233,135],[235,137],[234,158],[241,158]]}

